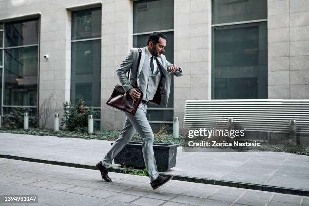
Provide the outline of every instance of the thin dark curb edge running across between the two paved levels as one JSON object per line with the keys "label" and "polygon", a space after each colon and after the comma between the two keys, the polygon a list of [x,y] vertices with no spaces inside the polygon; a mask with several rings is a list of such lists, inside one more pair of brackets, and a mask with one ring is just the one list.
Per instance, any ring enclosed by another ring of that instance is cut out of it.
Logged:
{"label": "thin dark curb edge running across between the two paved levels", "polygon": [[[7,158],[7,159],[13,159],[13,160],[23,160],[23,161],[37,162],[37,163],[45,163],[45,164],[51,164],[51,165],[61,165],[61,166],[75,167],[75,168],[84,168],[84,169],[90,169],[90,170],[97,170],[96,166],[91,166],[91,165],[59,162],[59,161],[53,161],[53,160],[42,160],[42,159],[35,159],[35,158],[26,158],[26,157],[13,156],[13,155],[2,155],[2,154],[0,154],[0,158]],[[123,173],[123,170],[124,170],[124,168],[120,168],[120,167],[109,168],[110,172]],[[133,170],[132,169],[126,169],[126,170],[127,171],[138,171],[138,170],[134,170],[134,169]],[[167,173],[162,173],[162,172],[159,172],[159,173],[162,174],[162,175],[167,175]],[[185,181],[185,182],[195,182],[195,183],[202,183],[202,184],[220,185],[220,186],[228,186],[228,187],[237,187],[237,188],[244,188],[244,189],[283,193],[283,194],[309,196],[308,190],[292,189],[292,188],[285,188],[285,187],[275,187],[275,186],[261,185],[261,184],[250,184],[250,183],[244,183],[244,182],[230,182],[230,181],[224,181],[224,180],[204,179],[204,178],[188,177],[188,176],[181,176],[181,175],[174,175],[173,180],[179,180],[179,181]]]}

